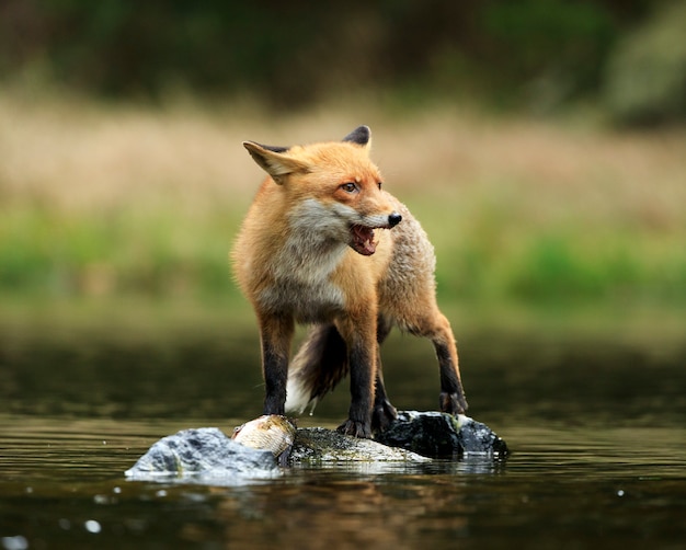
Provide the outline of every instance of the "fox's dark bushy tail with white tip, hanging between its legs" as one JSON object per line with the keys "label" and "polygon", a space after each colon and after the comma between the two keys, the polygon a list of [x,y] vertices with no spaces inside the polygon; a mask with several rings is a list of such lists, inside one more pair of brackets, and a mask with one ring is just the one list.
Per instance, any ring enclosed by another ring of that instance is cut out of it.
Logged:
{"label": "fox's dark bushy tail with white tip, hanging between its legs", "polygon": [[333,324],[313,326],[288,368],[286,411],[302,413],[347,375],[347,346]]}

